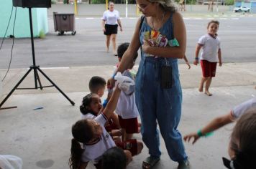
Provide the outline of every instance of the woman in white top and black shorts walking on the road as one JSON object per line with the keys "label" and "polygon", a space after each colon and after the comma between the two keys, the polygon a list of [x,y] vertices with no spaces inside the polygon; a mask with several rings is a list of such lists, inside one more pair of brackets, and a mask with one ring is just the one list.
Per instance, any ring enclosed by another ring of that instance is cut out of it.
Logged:
{"label": "woman in white top and black shorts walking on the road", "polygon": [[119,11],[114,9],[114,2],[109,1],[109,9],[104,11],[101,22],[102,30],[106,35],[106,52],[109,52],[109,44],[110,40],[112,41],[113,53],[114,56],[116,54],[116,34],[117,27],[120,27],[120,31],[122,32],[122,24],[119,18]]}

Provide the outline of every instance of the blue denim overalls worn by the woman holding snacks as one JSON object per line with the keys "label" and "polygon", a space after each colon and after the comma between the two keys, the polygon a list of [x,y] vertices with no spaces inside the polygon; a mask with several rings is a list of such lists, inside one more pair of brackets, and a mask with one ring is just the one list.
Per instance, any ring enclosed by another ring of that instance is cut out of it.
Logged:
{"label": "blue denim overalls worn by the woman holding snacks", "polygon": [[[172,14],[168,21],[163,24],[163,29],[159,31],[168,40],[171,39],[173,31]],[[146,19],[140,29],[140,42],[143,44],[143,32],[150,31]],[[163,32],[162,32],[163,30]],[[160,139],[157,123],[160,132],[165,140],[168,154],[173,161],[183,161],[187,159],[182,137],[177,127],[180,121],[182,91],[180,87],[178,61],[177,59],[163,57],[145,57],[142,52],[140,67],[137,72],[135,82],[135,96],[137,108],[142,120],[142,140],[144,141],[149,153],[153,157],[160,157]],[[168,64],[173,69],[173,87],[163,89],[160,87],[161,67]]]}

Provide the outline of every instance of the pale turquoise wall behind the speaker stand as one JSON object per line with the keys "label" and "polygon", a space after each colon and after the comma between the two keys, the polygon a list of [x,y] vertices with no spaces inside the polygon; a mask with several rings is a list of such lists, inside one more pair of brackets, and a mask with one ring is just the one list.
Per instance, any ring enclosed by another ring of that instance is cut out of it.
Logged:
{"label": "pale turquoise wall behind the speaker stand", "polygon": [[[14,17],[15,17],[16,9],[17,9],[16,21],[14,26]],[[13,7],[12,0],[1,0],[0,37],[4,37],[11,13],[12,13],[12,18],[9,24],[9,29],[6,33],[6,37],[9,36],[10,34],[13,34],[13,27],[14,27],[15,37],[30,37],[29,9]],[[32,21],[33,21],[34,37],[39,37],[40,31],[47,34],[48,22],[47,22],[46,8],[32,8]]]}

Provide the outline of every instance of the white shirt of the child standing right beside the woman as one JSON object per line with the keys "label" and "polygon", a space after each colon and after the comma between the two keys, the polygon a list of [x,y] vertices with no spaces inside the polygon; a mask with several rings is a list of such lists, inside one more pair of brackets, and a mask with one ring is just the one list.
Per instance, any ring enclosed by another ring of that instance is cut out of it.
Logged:
{"label": "white shirt of the child standing right beside the woman", "polygon": [[[122,74],[134,80],[131,72],[125,70]],[[129,91],[121,91],[117,105],[116,105],[116,114],[121,116],[123,119],[131,119],[138,117],[139,111],[135,103],[135,85],[129,86]]]}

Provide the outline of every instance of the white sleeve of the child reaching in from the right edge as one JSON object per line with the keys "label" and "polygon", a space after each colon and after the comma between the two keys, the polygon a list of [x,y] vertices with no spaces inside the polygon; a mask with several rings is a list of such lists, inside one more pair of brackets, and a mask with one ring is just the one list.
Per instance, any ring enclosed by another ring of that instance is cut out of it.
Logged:
{"label": "white sleeve of the child reaching in from the right edge", "polygon": [[231,111],[232,117],[234,119],[237,119],[241,117],[245,112],[248,112],[250,110],[255,110],[256,111],[256,98],[253,97],[250,100],[247,100],[245,102],[242,102],[241,104],[237,105],[236,107],[233,108]]}

